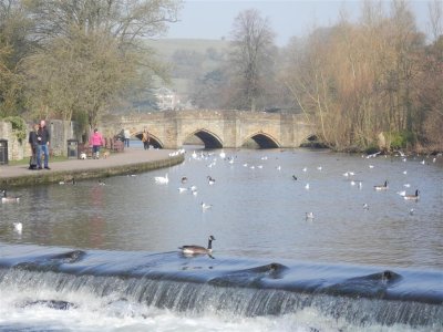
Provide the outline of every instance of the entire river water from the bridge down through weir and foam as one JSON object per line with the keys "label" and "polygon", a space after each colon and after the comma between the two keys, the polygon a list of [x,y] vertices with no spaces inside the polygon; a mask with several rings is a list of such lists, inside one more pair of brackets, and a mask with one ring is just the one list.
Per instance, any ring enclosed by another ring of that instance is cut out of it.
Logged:
{"label": "entire river water from the bridge down through weir and foam", "polygon": [[[442,156],[198,147],[166,169],[14,188],[0,331],[440,331],[442,188]],[[177,249],[209,235],[212,257]]]}

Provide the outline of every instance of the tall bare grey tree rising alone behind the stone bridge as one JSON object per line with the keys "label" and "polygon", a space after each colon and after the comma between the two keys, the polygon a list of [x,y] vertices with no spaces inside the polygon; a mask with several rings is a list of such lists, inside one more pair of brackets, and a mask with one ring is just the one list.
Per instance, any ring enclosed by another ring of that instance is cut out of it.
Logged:
{"label": "tall bare grey tree rising alone behind the stone bridge", "polygon": [[267,19],[255,9],[243,11],[234,21],[229,54],[234,71],[233,83],[237,86],[238,105],[256,110],[256,102],[272,69],[276,53],[275,34]]}

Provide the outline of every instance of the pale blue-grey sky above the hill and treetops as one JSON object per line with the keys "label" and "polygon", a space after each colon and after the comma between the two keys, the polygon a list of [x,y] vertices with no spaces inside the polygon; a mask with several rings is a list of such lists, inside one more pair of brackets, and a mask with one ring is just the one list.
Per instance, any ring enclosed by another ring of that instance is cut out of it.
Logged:
{"label": "pale blue-grey sky above the hill and treetops", "polygon": [[[313,27],[329,27],[338,22],[346,9],[351,21],[358,20],[362,0],[187,0],[179,12],[179,22],[169,25],[166,38],[229,39],[235,18],[244,10],[257,9],[269,20],[276,43],[286,45],[291,37],[303,37]],[[385,2],[387,12],[391,1]],[[426,31],[429,0],[408,1],[415,14],[419,29]]]}

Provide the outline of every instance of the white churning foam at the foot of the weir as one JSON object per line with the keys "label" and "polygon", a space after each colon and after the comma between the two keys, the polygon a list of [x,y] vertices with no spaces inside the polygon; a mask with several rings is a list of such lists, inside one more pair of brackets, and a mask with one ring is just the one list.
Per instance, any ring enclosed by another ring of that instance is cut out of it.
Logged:
{"label": "white churning foam at the foot of the weir", "polygon": [[[240,317],[207,308],[202,313],[173,312],[111,297],[48,289],[0,289],[0,331],[153,331],[153,332],[268,332],[268,331],[432,331],[405,325],[349,325],[307,308],[296,313]],[[68,310],[53,309],[49,300],[72,303]]]}

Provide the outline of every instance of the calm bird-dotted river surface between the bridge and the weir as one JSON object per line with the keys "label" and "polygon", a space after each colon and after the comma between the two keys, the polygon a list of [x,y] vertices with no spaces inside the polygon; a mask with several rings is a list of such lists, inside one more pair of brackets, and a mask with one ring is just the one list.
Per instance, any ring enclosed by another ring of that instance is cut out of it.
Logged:
{"label": "calm bird-dotted river surface between the bridge and the weir", "polygon": [[[0,241],[165,252],[206,245],[213,234],[218,257],[443,267],[442,157],[423,165],[326,151],[225,149],[225,159],[220,151],[197,151],[196,158],[192,152],[182,165],[107,178],[104,186],[11,189],[21,201],[0,206]],[[155,184],[165,173],[169,183]],[[389,189],[375,191],[385,179]],[[178,190],[190,186],[197,195]],[[396,194],[415,189],[418,203]],[[213,208],[202,210],[202,203]],[[23,222],[21,236],[16,220]]]}

